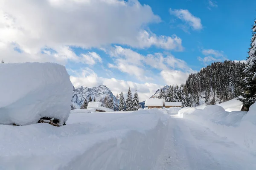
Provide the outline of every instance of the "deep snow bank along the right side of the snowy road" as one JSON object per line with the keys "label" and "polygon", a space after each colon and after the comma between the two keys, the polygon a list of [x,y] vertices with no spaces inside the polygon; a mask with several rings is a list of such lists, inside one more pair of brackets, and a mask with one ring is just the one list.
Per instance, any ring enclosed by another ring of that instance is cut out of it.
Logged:
{"label": "deep snow bank along the right side of the snowy road", "polygon": [[183,108],[178,114],[256,152],[256,103],[251,105],[248,112],[228,112],[221,106],[211,105],[204,110]]}

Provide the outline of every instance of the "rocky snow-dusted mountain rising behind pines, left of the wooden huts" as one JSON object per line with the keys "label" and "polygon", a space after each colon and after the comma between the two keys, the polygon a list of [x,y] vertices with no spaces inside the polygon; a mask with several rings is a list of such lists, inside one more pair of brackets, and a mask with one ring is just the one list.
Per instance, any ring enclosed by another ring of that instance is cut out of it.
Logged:
{"label": "rocky snow-dusted mountain rising behind pines, left of the wooden huts", "polygon": [[109,99],[113,97],[114,103],[116,103],[116,96],[113,95],[112,91],[105,85],[99,85],[98,87],[88,88],[81,86],[80,88],[73,87],[73,98],[72,103],[76,108],[80,108],[84,102],[84,99],[89,97],[96,99],[96,101],[103,101],[107,96]]}

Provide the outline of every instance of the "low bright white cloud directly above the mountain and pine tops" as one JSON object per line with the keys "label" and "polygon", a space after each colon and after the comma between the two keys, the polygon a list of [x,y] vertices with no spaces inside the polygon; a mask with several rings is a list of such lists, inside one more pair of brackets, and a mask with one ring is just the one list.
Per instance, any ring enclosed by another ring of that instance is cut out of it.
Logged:
{"label": "low bright white cloud directly above the mountain and pine tops", "polygon": [[[76,71],[73,71],[76,72]],[[103,78],[98,77],[97,74],[90,68],[85,68],[81,73],[76,73],[76,76],[70,77],[71,82],[77,88],[81,85],[87,87],[95,87],[98,85],[106,85],[114,95],[120,94],[123,91],[125,94],[128,91],[128,88],[131,87],[131,91],[134,93],[135,89],[140,97],[140,101],[144,101],[151,97],[158,88],[162,87],[154,83],[135,83],[131,81],[119,80],[115,78]]]}

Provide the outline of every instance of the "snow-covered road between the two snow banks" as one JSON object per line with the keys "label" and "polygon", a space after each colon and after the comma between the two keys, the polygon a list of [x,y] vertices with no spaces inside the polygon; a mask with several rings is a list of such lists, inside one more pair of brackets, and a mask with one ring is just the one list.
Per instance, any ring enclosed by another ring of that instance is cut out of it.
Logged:
{"label": "snow-covered road between the two snow banks", "polygon": [[255,170],[256,154],[189,119],[171,115],[154,170]]}

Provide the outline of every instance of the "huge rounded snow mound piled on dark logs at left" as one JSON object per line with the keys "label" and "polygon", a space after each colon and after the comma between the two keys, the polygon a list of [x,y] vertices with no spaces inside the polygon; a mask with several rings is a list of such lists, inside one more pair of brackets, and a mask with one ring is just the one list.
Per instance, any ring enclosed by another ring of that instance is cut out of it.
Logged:
{"label": "huge rounded snow mound piled on dark logs at left", "polygon": [[64,66],[1,64],[0,82],[0,124],[29,125],[44,116],[67,121],[73,85]]}

